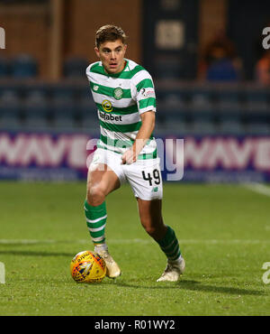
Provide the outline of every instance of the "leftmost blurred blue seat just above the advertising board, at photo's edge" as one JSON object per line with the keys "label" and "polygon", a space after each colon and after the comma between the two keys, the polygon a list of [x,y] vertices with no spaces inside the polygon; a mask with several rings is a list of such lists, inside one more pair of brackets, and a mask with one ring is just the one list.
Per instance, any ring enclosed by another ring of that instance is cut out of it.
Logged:
{"label": "leftmost blurred blue seat just above the advertising board, at photo's edge", "polygon": [[22,101],[13,90],[5,90],[0,97],[0,122],[2,128],[21,125]]}

